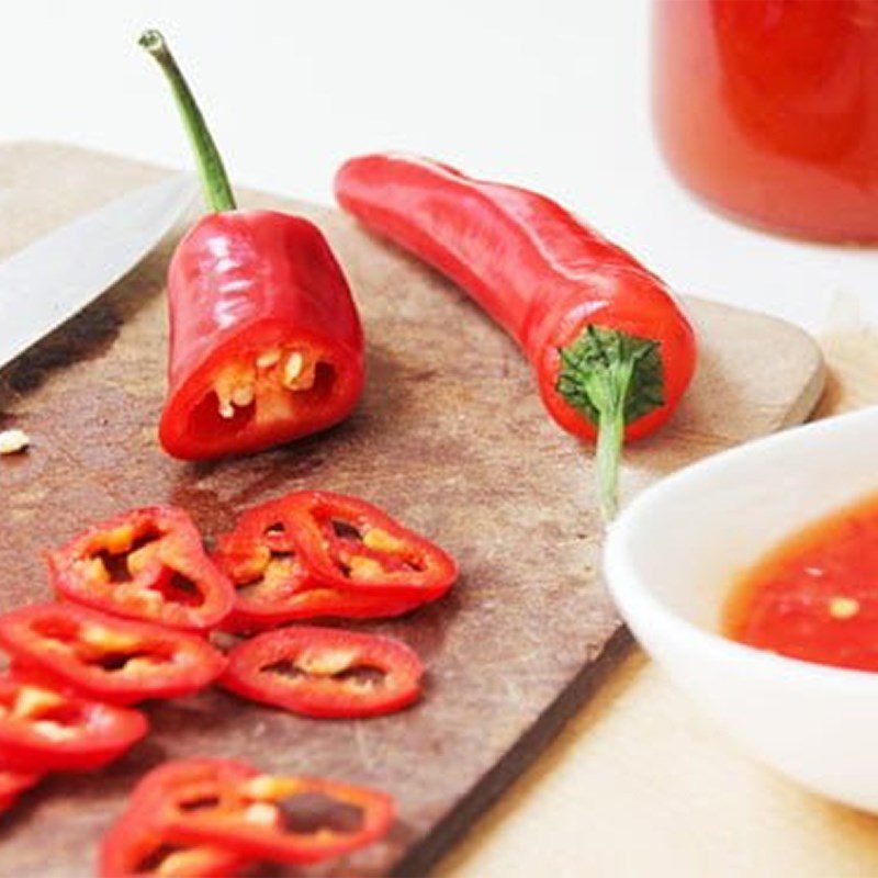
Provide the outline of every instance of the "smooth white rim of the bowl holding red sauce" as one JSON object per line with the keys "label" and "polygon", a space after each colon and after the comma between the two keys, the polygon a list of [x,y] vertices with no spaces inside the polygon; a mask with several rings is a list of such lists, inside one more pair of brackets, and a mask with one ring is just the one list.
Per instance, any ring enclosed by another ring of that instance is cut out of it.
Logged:
{"label": "smooth white rim of the bowl holding red sauce", "polygon": [[[665,495],[673,495],[679,486],[700,480],[706,471],[758,454],[766,448],[798,443],[807,441],[811,436],[848,429],[848,424],[852,424],[851,429],[854,429],[863,420],[878,420],[878,406],[790,427],[721,451],[678,470],[639,494],[610,525],[601,558],[604,579],[624,621],[628,623],[629,617],[635,618],[638,622],[649,619],[651,629],[660,627],[667,639],[687,642],[693,649],[714,661],[734,663],[754,674],[778,682],[799,686],[831,686],[845,690],[868,689],[874,696],[871,690],[878,688],[876,671],[859,671],[792,658],[740,643],[689,621],[656,597],[646,581],[635,571],[629,551],[631,531],[639,526],[640,519],[643,516],[655,516],[665,503]],[[635,633],[639,624],[633,623],[630,627],[632,633]],[[645,644],[641,645],[646,652],[653,652]]]}

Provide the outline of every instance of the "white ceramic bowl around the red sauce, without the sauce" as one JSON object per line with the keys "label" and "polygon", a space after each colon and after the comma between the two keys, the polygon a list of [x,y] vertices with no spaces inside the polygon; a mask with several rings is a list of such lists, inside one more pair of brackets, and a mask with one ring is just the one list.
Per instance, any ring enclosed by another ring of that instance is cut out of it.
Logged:
{"label": "white ceramic bowl around the red sauce, without the sauce", "polygon": [[755,756],[878,812],[878,673],[721,637],[735,575],[800,526],[878,491],[878,408],[790,429],[645,491],[610,529],[609,588],[646,651]]}

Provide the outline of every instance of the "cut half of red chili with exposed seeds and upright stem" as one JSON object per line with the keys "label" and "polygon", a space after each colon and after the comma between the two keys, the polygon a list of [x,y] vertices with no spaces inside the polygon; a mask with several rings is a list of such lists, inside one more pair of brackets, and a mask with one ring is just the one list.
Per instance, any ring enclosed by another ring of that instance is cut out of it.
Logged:
{"label": "cut half of red chili with exposed seeds and upright stem", "polygon": [[320,230],[239,211],[219,154],[164,38],[140,45],[168,77],[211,214],[180,241],[168,275],[170,392],[159,437],[178,458],[260,451],[346,418],[363,385],[363,339]]}

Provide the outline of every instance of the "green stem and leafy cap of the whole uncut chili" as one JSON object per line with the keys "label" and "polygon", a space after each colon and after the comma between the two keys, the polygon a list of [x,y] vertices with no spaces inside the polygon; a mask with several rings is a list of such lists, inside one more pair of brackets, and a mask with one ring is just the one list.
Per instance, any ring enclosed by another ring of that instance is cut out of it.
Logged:
{"label": "green stem and leafy cap of the whole uncut chili", "polygon": [[618,508],[626,424],[664,403],[658,345],[616,329],[588,326],[559,354],[558,392],[597,427],[598,502],[604,520],[610,521]]}

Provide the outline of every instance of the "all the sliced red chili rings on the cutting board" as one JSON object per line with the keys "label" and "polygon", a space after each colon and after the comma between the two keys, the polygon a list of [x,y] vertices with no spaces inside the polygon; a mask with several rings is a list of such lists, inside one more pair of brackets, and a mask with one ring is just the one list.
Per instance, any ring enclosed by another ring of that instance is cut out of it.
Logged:
{"label": "all the sliced red chili rings on the cutting board", "polygon": [[[217,683],[311,717],[371,717],[420,695],[404,643],[314,618],[408,612],[448,592],[446,552],[353,497],[297,492],[246,510],[207,554],[181,509],[134,509],[48,553],[61,603],[0,616],[0,810],[48,772],[95,770],[148,731],[132,705]],[[283,627],[285,626],[285,627]],[[216,631],[240,635],[228,653]],[[104,837],[100,874],[229,876],[381,837],[385,793],[222,759],[148,773]]]}

